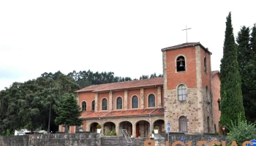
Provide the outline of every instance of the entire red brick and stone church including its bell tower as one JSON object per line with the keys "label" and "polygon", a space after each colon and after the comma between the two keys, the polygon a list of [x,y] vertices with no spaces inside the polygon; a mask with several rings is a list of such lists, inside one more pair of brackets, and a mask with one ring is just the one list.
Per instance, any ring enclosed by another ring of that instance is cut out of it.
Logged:
{"label": "entire red brick and stone church including its bell tower", "polygon": [[[160,64],[159,64],[160,65]],[[77,93],[83,131],[148,137],[159,133],[219,132],[219,71],[211,71],[211,52],[200,42],[162,49],[163,77],[91,85]],[[168,123],[168,126],[167,126]],[[59,131],[64,131],[60,126]],[[78,126],[69,128],[69,133]]]}

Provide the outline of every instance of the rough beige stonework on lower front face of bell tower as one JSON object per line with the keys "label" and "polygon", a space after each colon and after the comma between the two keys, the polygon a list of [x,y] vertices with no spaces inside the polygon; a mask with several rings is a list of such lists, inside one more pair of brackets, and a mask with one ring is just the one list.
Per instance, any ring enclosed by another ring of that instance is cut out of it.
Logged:
{"label": "rough beige stonework on lower front face of bell tower", "polygon": [[200,133],[198,130],[203,123],[200,123],[198,116],[198,98],[197,88],[187,89],[187,101],[178,101],[177,91],[168,90],[167,98],[165,99],[165,123],[170,122],[170,131],[178,132],[178,118],[181,116],[187,117],[188,133]]}

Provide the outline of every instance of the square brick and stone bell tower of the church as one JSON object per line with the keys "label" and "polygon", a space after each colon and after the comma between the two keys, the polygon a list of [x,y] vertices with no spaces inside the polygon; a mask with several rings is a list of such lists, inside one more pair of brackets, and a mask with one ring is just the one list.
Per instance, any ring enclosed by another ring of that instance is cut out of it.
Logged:
{"label": "square brick and stone bell tower of the church", "polygon": [[211,52],[200,42],[187,42],[163,48],[162,61],[170,132],[214,133]]}

